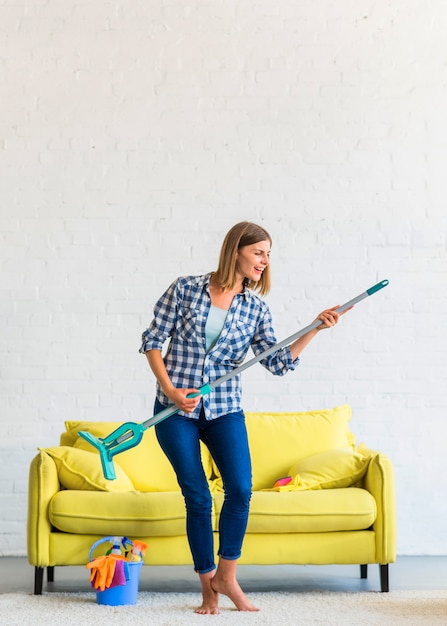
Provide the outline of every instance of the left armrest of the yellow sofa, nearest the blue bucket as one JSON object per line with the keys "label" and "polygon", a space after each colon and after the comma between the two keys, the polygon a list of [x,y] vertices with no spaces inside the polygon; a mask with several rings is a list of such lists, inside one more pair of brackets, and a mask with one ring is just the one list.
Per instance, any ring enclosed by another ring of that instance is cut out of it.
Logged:
{"label": "left armrest of the yellow sofa, nearest the blue bucket", "polygon": [[28,481],[27,548],[28,561],[36,567],[50,563],[49,539],[51,524],[49,505],[61,486],[56,464],[44,451],[31,461]]}

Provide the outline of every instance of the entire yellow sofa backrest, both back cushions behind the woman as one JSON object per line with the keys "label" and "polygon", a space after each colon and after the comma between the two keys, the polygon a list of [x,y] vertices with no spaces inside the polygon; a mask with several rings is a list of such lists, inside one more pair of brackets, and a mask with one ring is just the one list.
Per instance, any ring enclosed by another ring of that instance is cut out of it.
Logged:
{"label": "entire yellow sofa backrest, both back cushions behind the woman", "polygon": [[[354,448],[355,437],[348,426],[351,415],[351,407],[346,404],[300,413],[246,413],[253,489],[271,488],[302,458],[337,448]],[[79,436],[79,431],[104,438],[121,425],[122,422],[67,421],[60,445],[96,452]],[[206,476],[213,480],[213,488],[221,489],[219,471],[205,446],[202,446],[202,460]],[[140,443],[117,454],[114,462],[138,491],[180,490],[174,470],[158,444],[155,428],[147,429]]]}

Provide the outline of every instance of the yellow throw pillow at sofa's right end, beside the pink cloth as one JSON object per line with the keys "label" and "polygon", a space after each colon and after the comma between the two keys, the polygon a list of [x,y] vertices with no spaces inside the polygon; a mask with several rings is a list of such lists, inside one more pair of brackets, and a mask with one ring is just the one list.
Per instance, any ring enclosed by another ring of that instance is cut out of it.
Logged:
{"label": "yellow throw pillow at sofa's right end, beside the pink cloth", "polygon": [[275,491],[351,487],[366,473],[371,457],[352,448],[339,448],[297,461],[289,470],[292,482]]}

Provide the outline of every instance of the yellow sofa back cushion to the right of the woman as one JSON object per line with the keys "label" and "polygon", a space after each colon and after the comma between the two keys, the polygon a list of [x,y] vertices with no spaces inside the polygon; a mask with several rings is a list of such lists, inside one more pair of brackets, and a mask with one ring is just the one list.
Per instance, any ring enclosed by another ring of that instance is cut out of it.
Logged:
{"label": "yellow sofa back cushion to the right of the woman", "polygon": [[[301,413],[246,413],[246,425],[252,459],[253,490],[271,488],[287,476],[290,467],[301,458],[335,448],[355,446],[349,430],[351,407]],[[222,490],[219,470],[213,483]]]}

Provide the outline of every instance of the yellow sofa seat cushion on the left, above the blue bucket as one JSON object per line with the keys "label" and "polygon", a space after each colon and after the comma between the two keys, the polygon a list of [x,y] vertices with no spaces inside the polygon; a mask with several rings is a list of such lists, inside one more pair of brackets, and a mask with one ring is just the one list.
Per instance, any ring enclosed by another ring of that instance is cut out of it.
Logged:
{"label": "yellow sofa seat cushion on the left, above the blue bucket", "polygon": [[185,504],[178,491],[60,491],[50,502],[49,518],[57,530],[82,535],[170,537],[186,533]]}

